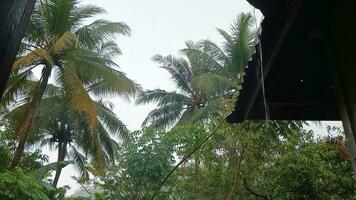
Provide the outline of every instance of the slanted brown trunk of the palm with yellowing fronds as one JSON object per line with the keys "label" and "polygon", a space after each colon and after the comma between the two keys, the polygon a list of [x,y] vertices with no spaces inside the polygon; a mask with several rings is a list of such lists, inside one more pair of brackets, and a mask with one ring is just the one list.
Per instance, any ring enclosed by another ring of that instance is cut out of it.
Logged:
{"label": "slanted brown trunk of the palm with yellowing fronds", "polygon": [[42,97],[46,91],[48,79],[51,75],[51,66],[46,65],[42,73],[39,88],[37,89],[35,95],[32,97],[29,107],[26,110],[23,120],[20,122],[16,129],[16,135],[19,137],[19,144],[15,150],[14,158],[11,162],[11,169],[14,169],[22,158],[23,152],[25,150],[25,145],[29,132],[32,126],[33,119],[35,118],[36,111],[42,100]]}

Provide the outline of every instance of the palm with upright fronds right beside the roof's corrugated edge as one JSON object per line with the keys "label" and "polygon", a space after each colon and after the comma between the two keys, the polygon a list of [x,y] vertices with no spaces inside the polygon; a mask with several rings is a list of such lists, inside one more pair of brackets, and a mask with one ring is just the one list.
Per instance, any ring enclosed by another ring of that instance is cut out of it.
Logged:
{"label": "palm with upright fronds right beside the roof's corrugated edge", "polygon": [[231,25],[230,31],[218,29],[224,38],[223,47],[210,40],[189,42],[182,51],[188,57],[196,57],[205,63],[206,71],[194,79],[201,90],[216,90],[222,95],[235,95],[243,82],[243,73],[257,42],[256,29],[250,14],[242,13]]}

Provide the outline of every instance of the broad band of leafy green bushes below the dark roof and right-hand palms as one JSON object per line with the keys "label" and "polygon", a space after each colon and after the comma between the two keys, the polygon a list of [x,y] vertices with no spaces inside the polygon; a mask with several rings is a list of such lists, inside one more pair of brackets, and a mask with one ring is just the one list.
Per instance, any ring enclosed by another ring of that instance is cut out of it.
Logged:
{"label": "broad band of leafy green bushes below the dark roof and right-hand palms", "polygon": [[[224,125],[181,165],[156,199],[352,199],[355,180],[341,137],[314,139],[300,122]],[[98,199],[150,199],[213,124],[137,132],[97,187]]]}

